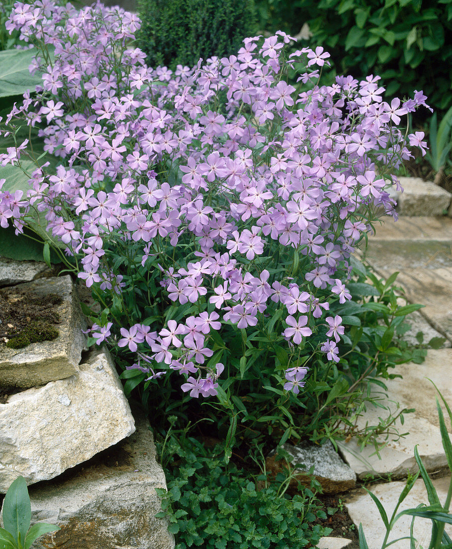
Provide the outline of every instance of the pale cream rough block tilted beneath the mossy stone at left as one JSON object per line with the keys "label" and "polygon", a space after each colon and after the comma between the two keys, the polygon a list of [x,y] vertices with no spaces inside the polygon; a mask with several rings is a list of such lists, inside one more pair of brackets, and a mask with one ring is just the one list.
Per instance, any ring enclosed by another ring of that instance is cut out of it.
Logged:
{"label": "pale cream rough block tilted beneath the mossy stone at left", "polygon": [[0,404],[0,492],[22,475],[48,480],[134,432],[133,417],[108,351],[80,371]]}

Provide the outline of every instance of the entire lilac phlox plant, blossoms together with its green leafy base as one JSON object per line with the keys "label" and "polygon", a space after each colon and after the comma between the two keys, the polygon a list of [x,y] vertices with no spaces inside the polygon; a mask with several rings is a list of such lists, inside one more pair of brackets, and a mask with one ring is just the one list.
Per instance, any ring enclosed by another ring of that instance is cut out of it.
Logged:
{"label": "entire lilac phlox plant, blossoms together with its green leafy base", "polygon": [[7,28],[42,76],[3,120],[0,226],[36,231],[44,259],[91,288],[88,341],[163,435],[170,414],[197,422],[225,467],[263,440],[391,436],[394,417],[355,420],[370,383],[384,391],[413,358],[393,342],[419,306],[352,253],[382,211],[397,217],[391,173],[425,147],[398,125],[426,97],[388,104],[377,76],[319,86],[329,55],[290,53],[284,32],[152,68],[139,26],[101,4],[15,4]]}

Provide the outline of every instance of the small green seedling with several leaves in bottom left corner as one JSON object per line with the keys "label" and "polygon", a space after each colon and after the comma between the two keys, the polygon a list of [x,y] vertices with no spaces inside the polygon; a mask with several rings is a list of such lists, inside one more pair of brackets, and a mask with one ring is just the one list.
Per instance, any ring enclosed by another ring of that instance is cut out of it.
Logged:
{"label": "small green seedling with several leaves in bottom left corner", "polygon": [[3,525],[0,549],[30,549],[37,537],[59,530],[59,526],[38,522],[30,528],[31,504],[24,477],[9,487],[3,501]]}

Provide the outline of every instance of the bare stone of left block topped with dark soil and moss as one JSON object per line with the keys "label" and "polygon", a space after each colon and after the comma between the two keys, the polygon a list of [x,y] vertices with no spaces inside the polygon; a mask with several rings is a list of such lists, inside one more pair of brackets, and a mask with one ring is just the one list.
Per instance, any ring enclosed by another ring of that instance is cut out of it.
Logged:
{"label": "bare stone of left block topped with dark soil and moss", "polygon": [[63,299],[56,306],[61,322],[58,338],[53,341],[32,343],[24,349],[0,347],[0,387],[27,389],[64,379],[78,371],[86,338],[81,332],[85,326],[77,296],[69,275],[43,278],[14,286],[26,288],[38,295],[58,294]]}

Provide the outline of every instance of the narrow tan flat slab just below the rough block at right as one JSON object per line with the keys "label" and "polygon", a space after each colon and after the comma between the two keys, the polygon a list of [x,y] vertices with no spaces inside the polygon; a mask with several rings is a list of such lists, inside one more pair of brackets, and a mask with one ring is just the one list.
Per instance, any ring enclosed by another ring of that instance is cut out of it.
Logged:
{"label": "narrow tan flat slab just below the rough block at right", "polygon": [[449,217],[405,217],[394,221],[391,216],[383,216],[383,224],[375,226],[374,240],[438,240],[452,242],[452,219]]}

